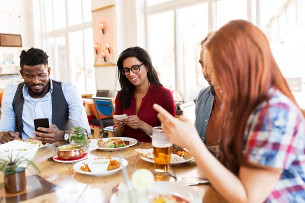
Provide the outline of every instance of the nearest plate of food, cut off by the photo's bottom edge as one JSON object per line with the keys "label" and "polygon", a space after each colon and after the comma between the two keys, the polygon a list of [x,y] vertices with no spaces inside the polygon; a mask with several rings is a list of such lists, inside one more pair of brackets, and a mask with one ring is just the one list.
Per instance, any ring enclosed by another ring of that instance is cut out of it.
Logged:
{"label": "nearest plate of food, cut off by the photo's bottom edge", "polygon": [[[123,187],[118,186],[115,193],[110,198],[110,203],[119,203],[121,202],[121,196],[126,196],[123,193]],[[135,190],[132,191],[133,197],[138,199],[138,196],[141,195]],[[202,195],[199,192],[191,188],[190,186],[181,185],[179,183],[171,183],[165,181],[155,181],[153,186],[149,189],[148,195],[149,202],[159,203],[159,202],[172,202],[172,203],[201,203]]]}

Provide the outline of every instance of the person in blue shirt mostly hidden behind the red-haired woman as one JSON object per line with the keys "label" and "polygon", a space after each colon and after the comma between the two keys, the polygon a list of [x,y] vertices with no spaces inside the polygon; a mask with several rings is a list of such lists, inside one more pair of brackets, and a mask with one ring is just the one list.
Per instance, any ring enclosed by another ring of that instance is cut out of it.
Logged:
{"label": "person in blue shirt mostly hidden behind the red-haired woman", "polygon": [[210,147],[210,149],[216,149],[218,145],[219,137],[214,133],[214,124],[216,122],[217,114],[221,111],[222,101],[217,97],[214,87],[211,86],[211,79],[206,71],[206,66],[203,61],[204,54],[204,43],[209,38],[210,33],[207,37],[201,41],[201,52],[199,63],[202,66],[202,73],[209,86],[198,95],[195,108],[195,126],[198,134],[203,143]]}

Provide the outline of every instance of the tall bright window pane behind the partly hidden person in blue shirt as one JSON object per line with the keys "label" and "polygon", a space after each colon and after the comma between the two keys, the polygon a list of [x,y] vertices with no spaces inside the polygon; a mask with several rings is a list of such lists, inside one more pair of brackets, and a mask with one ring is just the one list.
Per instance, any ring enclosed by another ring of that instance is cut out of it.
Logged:
{"label": "tall bright window pane behind the partly hidden person in blue shirt", "polygon": [[179,9],[178,16],[179,91],[186,102],[195,99],[208,85],[198,62],[200,42],[208,33],[208,4]]}

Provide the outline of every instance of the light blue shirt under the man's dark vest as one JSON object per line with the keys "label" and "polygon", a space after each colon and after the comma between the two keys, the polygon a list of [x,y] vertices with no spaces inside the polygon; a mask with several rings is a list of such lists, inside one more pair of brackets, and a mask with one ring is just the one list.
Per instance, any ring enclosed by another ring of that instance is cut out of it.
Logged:
{"label": "light blue shirt under the man's dark vest", "polygon": [[[0,118],[0,132],[12,130],[16,131],[16,115],[13,109],[13,99],[18,87],[18,83],[10,83],[7,85],[1,107]],[[62,82],[62,89],[69,109],[69,120],[73,127],[78,126],[80,111],[82,116],[80,119],[80,126],[84,127],[88,136],[91,134],[88,119],[86,116],[85,108],[83,107],[83,101],[77,88],[70,82]],[[23,130],[21,133],[22,140],[34,137],[35,131],[34,119],[48,118],[49,124],[52,124],[52,91],[53,82],[50,80],[50,90],[42,98],[33,98],[28,93],[27,85],[23,86],[22,93],[24,97],[22,121]],[[71,129],[65,129],[71,130]]]}

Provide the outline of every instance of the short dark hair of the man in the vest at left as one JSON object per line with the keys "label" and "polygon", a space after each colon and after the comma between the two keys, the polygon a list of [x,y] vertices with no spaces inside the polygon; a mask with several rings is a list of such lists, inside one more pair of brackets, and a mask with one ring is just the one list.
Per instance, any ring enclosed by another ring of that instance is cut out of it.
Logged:
{"label": "short dark hair of the man in the vest at left", "polygon": [[23,69],[24,65],[48,65],[48,55],[41,49],[31,48],[27,51],[22,50],[20,54],[20,67]]}

